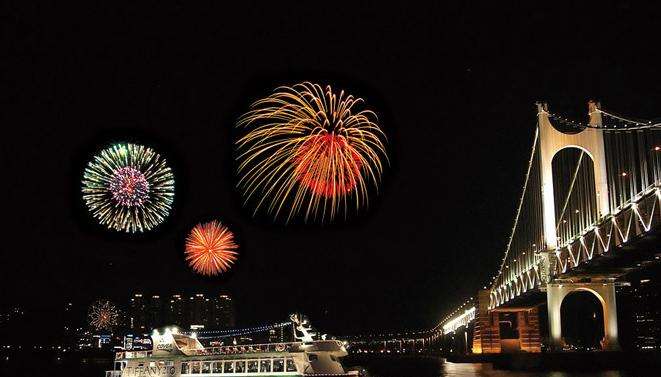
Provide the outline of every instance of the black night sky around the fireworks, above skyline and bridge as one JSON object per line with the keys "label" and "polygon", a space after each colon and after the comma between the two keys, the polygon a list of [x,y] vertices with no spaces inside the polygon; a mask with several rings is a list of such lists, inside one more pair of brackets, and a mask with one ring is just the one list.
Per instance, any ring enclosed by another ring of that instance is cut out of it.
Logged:
{"label": "black night sky around the fireworks, above skyline and bridge", "polygon": [[[535,101],[581,120],[592,98],[661,116],[658,12],[633,2],[176,3],[2,6],[0,305],[224,291],[240,325],[298,310],[331,333],[433,326],[497,269]],[[388,136],[383,190],[346,222],[253,218],[235,189],[237,117],[304,80],[363,97]],[[82,202],[85,164],[118,141],[174,170],[155,232],[106,230]],[[241,257],[203,278],[184,239],[213,218]]]}

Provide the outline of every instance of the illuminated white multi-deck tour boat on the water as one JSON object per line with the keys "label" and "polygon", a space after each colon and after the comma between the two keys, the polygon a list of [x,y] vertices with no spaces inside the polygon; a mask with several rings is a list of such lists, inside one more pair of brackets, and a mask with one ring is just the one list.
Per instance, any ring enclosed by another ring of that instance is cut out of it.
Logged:
{"label": "illuminated white multi-deck tour boat on the water", "polygon": [[340,364],[347,355],[343,342],[317,337],[300,316],[291,319],[295,341],[289,343],[204,347],[194,334],[155,331],[151,351],[117,352],[106,377],[360,375]]}

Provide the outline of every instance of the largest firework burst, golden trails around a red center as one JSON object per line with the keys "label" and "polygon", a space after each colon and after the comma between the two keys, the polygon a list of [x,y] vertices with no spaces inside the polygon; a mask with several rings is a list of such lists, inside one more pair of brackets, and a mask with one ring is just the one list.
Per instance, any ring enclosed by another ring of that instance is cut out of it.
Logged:
{"label": "largest firework burst, golden trails around a red center", "polygon": [[387,160],[385,135],[361,98],[305,82],[252,104],[238,126],[239,183],[245,202],[276,218],[333,220],[368,204]]}

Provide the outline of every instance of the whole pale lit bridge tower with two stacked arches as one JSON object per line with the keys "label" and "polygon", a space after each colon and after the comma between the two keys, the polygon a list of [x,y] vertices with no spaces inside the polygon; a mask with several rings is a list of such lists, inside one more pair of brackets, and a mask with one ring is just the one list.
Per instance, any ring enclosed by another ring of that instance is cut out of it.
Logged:
{"label": "whole pale lit bridge tower with two stacked arches", "polygon": [[[591,126],[601,126],[601,113],[599,104],[593,101],[588,103],[588,114]],[[594,165],[594,183],[596,189],[596,201],[598,218],[610,214],[608,203],[608,180],[606,175],[606,155],[604,151],[603,132],[594,128],[586,128],[575,134],[566,134],[558,131],[549,120],[548,107],[546,104],[537,104],[537,116],[539,122],[540,142],[540,164],[542,179],[542,212],[544,224],[544,240],[547,249],[547,261],[555,260],[555,252],[558,249],[558,235],[556,232],[555,198],[553,193],[553,157],[565,148],[579,148],[586,152],[592,159]],[[607,350],[618,349],[617,338],[617,307],[615,302],[615,283],[612,280],[599,282],[552,282],[552,271],[550,263],[542,266],[545,269],[543,275],[548,277],[547,307],[549,318],[549,332],[552,346],[562,346],[562,323],[560,308],[562,301],[569,293],[574,291],[588,291],[593,293],[602,304],[604,311],[605,344]]]}

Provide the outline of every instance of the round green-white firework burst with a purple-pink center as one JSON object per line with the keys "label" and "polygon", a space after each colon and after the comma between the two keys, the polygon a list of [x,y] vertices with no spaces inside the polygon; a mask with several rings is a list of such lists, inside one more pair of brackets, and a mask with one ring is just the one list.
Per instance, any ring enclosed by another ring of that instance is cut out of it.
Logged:
{"label": "round green-white firework burst with a purple-pink center", "polygon": [[168,216],[174,200],[174,176],[151,148],[117,144],[85,168],[83,200],[92,216],[110,229],[144,232]]}

